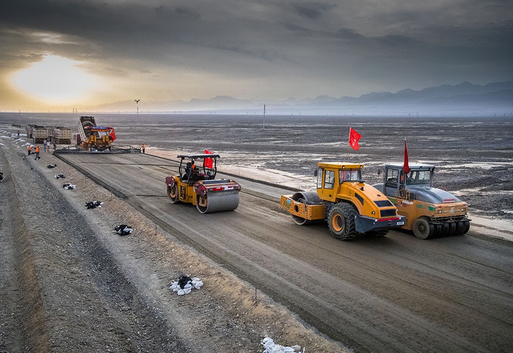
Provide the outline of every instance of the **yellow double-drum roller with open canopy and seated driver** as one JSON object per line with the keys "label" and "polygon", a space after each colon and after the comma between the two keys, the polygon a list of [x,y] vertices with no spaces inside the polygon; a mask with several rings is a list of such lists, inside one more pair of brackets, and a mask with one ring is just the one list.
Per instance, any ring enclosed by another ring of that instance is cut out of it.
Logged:
{"label": "yellow double-drum roller with open canopy and seated driver", "polygon": [[[171,203],[192,203],[200,213],[235,210],[241,185],[231,179],[215,179],[218,154],[179,155],[179,174],[166,177]],[[201,165],[196,165],[200,161]]]}

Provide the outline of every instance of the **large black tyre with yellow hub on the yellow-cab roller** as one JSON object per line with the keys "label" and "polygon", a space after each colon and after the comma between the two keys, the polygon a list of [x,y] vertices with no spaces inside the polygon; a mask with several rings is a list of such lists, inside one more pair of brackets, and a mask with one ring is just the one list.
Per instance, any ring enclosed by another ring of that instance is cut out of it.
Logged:
{"label": "large black tyre with yellow hub on the yellow-cab roller", "polygon": [[358,235],[354,230],[354,206],[349,203],[337,203],[331,207],[328,216],[328,228],[331,236],[338,240],[351,240]]}

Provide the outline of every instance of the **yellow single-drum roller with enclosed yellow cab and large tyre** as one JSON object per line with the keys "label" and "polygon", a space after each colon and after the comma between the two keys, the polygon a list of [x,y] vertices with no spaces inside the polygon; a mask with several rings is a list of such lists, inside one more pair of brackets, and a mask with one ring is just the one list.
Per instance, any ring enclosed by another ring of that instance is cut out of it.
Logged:
{"label": "yellow single-drum roller with enclosed yellow cab and large tyre", "polygon": [[327,221],[332,237],[351,240],[359,234],[385,236],[405,218],[382,192],[362,180],[364,164],[319,162],[317,191],[282,195],[281,206],[296,224]]}

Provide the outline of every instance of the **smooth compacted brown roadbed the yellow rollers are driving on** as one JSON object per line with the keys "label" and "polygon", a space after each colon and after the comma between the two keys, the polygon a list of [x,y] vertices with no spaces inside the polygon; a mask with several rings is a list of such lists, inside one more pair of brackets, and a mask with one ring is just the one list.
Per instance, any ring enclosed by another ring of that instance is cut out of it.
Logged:
{"label": "smooth compacted brown roadbed the yellow rollers are driving on", "polygon": [[[170,204],[176,163],[147,155],[66,155],[163,230],[357,351],[507,351],[513,320],[513,247],[469,235],[422,241],[332,239],[325,224],[297,226],[275,198],[243,185],[237,210],[199,214]],[[99,160],[101,158],[102,160]],[[250,298],[246,298],[250,300]],[[318,351],[318,350],[315,350]]]}

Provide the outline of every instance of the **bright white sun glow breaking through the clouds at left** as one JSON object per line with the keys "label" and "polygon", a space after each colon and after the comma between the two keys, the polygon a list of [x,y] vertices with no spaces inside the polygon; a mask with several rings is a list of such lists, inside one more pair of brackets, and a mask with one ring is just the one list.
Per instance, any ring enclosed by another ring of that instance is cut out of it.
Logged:
{"label": "bright white sun glow breaking through the clouds at left", "polygon": [[47,103],[82,100],[97,82],[94,76],[78,67],[80,64],[80,61],[46,55],[42,61],[14,73],[12,84],[29,97]]}

